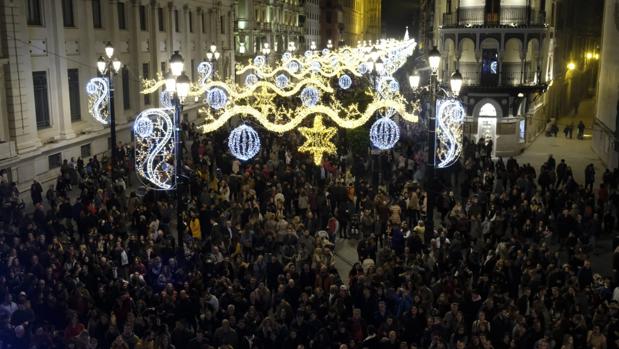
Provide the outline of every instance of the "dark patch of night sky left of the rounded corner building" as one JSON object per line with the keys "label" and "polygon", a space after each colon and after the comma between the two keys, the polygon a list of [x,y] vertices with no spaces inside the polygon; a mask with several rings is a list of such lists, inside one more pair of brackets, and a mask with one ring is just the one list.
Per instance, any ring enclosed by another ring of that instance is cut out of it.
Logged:
{"label": "dark patch of night sky left of the rounded corner building", "polygon": [[409,33],[416,36],[418,25],[418,8],[420,0],[382,0],[382,30],[388,38],[400,38],[404,27],[409,26]]}

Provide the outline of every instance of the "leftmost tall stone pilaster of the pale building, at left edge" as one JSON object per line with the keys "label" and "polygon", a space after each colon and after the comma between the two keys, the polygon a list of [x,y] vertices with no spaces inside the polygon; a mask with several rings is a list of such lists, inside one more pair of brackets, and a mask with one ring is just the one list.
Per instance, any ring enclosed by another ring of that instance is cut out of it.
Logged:
{"label": "leftmost tall stone pilaster of the pale building, at left edge", "polygon": [[[7,36],[16,40],[7,40],[8,69],[5,69],[6,109],[9,116],[9,133],[16,142],[17,152],[23,154],[41,146],[37,133],[34,95],[32,84],[32,63],[27,45],[28,28],[25,6],[19,1],[4,1],[3,18],[0,24]],[[19,40],[19,41],[17,41]]]}

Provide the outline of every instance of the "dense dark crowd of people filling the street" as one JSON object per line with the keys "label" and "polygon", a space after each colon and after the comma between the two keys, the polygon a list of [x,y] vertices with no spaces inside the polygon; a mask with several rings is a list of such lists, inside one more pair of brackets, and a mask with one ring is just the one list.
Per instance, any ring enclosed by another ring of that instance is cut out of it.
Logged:
{"label": "dense dark crowd of people filling the street", "polygon": [[[342,135],[345,155],[314,166],[293,134],[246,163],[224,135],[184,134],[182,243],[173,193],[138,195],[96,157],[65,162],[45,195],[34,182],[32,210],[2,181],[0,348],[619,345],[618,279],[591,260],[616,232],[617,170],[577,183],[563,160],[465,141],[429,231],[425,156],[405,135],[356,155]],[[346,238],[357,261],[336,254]]]}

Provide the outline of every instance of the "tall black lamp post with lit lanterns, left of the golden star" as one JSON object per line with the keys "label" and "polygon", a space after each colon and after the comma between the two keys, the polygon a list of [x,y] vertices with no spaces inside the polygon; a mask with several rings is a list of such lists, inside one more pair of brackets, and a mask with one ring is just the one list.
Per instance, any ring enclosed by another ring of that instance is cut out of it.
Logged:
{"label": "tall black lamp post with lit lanterns, left of the golden star", "polygon": [[181,114],[183,112],[183,102],[189,94],[190,80],[184,72],[185,63],[183,56],[175,51],[170,58],[170,72],[166,77],[166,91],[172,96],[174,106],[174,177],[176,181],[176,227],[178,242],[185,256],[183,212],[185,211],[184,180],[183,174],[183,141],[181,134]]}

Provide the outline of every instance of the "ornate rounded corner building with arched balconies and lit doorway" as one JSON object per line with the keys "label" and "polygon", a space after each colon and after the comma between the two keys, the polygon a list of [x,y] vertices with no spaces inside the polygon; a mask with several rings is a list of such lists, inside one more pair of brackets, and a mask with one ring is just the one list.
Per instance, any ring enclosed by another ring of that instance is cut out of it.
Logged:
{"label": "ornate rounded corner building with arched balconies and lit doorway", "polygon": [[436,0],[433,29],[439,79],[458,69],[467,108],[465,136],[492,140],[494,154],[519,153],[545,127],[552,80],[552,0]]}

